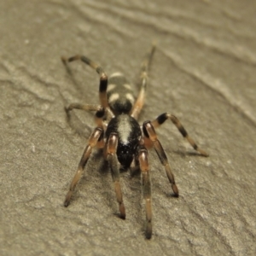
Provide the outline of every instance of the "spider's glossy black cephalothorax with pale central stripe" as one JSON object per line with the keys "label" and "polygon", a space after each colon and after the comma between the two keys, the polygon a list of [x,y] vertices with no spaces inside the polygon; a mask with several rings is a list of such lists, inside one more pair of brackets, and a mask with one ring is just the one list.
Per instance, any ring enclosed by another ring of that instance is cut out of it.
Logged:
{"label": "spider's glossy black cephalothorax with pale central stripe", "polygon": [[122,113],[110,120],[106,131],[106,137],[115,132],[119,137],[117,157],[121,166],[131,166],[134,153],[137,152],[142,132],[137,120],[130,115]]}

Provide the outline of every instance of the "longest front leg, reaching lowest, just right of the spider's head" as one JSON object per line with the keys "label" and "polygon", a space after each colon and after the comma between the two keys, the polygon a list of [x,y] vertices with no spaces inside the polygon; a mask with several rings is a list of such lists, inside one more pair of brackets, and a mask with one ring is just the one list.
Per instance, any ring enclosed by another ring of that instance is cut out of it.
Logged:
{"label": "longest front leg, reaching lowest, just right of the spider's head", "polygon": [[143,175],[143,198],[146,206],[146,237],[152,236],[152,207],[151,207],[151,183],[148,168],[148,151],[146,148],[139,150],[139,163]]}

